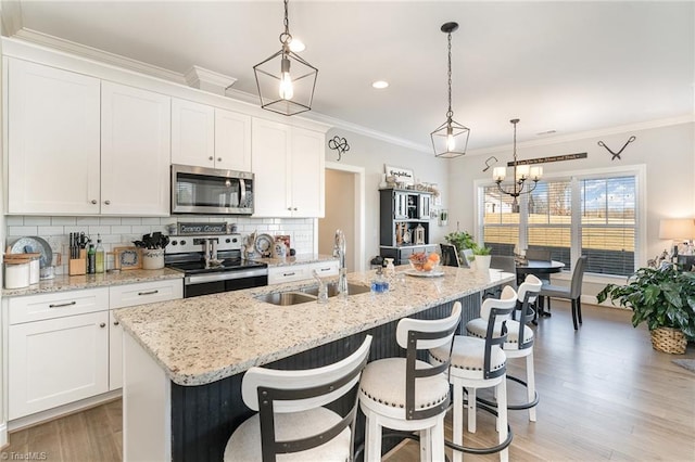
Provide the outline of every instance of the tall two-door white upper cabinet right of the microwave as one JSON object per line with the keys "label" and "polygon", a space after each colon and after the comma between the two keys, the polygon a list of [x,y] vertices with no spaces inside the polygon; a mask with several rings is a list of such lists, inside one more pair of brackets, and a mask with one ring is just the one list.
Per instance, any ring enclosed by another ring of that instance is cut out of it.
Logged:
{"label": "tall two-door white upper cabinet right of the microwave", "polygon": [[253,118],[254,216],[324,216],[324,133]]}

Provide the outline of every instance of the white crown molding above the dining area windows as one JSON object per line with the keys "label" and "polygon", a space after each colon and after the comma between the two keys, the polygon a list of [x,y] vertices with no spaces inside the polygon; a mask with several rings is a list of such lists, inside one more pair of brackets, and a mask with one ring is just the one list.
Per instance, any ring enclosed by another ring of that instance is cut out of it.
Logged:
{"label": "white crown molding above the dining area windows", "polygon": [[[695,121],[695,113],[684,114],[678,117],[661,118],[656,120],[641,121],[636,124],[619,125],[616,127],[607,127],[607,128],[601,128],[601,129],[589,130],[589,131],[578,131],[576,133],[563,134],[557,137],[547,137],[542,140],[523,141],[523,142],[517,143],[517,147],[547,146],[552,144],[567,143],[571,141],[585,140],[590,138],[607,137],[610,134],[620,134],[628,131],[649,130],[654,128],[670,127],[673,125],[690,124],[694,121]],[[490,154],[500,153],[501,151],[509,151],[513,147],[514,147],[513,144],[503,144],[497,146],[481,147],[478,150],[469,150],[467,154],[471,156],[490,155]]]}

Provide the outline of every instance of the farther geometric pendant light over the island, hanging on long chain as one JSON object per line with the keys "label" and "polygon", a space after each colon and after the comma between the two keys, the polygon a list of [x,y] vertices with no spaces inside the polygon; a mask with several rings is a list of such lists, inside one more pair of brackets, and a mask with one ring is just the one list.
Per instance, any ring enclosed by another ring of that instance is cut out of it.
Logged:
{"label": "farther geometric pendant light over the island, hanging on long chain", "polygon": [[442,158],[459,157],[466,154],[470,129],[454,120],[452,111],[452,33],[458,29],[457,23],[445,23],[441,30],[447,35],[448,40],[448,111],[446,121],[432,131],[432,147],[434,156]]}

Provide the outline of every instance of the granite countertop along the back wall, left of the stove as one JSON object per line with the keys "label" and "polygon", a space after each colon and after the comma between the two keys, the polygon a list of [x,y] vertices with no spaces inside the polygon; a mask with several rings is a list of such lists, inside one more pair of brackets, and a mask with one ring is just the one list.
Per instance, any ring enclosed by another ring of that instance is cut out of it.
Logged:
{"label": "granite countertop along the back wall, left of the stove", "polygon": [[38,284],[23,288],[3,288],[3,297],[48,294],[51,292],[74,291],[78,288],[108,287],[111,285],[135,284],[138,282],[160,281],[163,279],[182,279],[184,273],[169,268],[159,270],[127,270],[102,274],[56,275],[41,280]]}

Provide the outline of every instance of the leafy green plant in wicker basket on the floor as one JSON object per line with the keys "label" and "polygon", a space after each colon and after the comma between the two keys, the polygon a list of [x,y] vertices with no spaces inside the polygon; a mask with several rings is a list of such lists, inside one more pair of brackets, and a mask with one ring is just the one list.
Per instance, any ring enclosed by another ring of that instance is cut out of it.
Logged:
{"label": "leafy green plant in wicker basket on the floor", "polygon": [[695,339],[695,272],[677,266],[640,268],[628,284],[608,284],[596,298],[631,308],[632,325],[646,322],[654,349],[683,354],[687,339]]}

